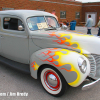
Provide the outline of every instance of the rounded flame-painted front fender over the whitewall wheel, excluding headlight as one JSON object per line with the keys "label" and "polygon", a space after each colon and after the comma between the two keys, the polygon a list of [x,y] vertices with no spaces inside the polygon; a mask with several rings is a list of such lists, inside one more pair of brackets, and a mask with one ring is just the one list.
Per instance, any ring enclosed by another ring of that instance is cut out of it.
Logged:
{"label": "rounded flame-painted front fender over the whitewall wheel, excluding headlight", "polygon": [[[78,66],[78,58],[83,57],[87,62],[87,71],[83,74]],[[88,59],[82,54],[74,51],[46,48],[36,51],[30,59],[31,76],[37,79],[37,72],[41,65],[48,64],[57,68],[64,76],[70,86],[80,85],[90,73],[90,64]]]}

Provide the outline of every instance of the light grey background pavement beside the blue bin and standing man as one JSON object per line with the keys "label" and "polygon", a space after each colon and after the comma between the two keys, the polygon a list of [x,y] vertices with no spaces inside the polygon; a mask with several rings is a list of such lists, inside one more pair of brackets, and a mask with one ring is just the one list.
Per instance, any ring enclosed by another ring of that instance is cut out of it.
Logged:
{"label": "light grey background pavement beside the blue bin and standing man", "polygon": [[[74,32],[87,34],[87,27],[76,26]],[[92,27],[91,34],[97,35],[98,34],[98,28]]]}

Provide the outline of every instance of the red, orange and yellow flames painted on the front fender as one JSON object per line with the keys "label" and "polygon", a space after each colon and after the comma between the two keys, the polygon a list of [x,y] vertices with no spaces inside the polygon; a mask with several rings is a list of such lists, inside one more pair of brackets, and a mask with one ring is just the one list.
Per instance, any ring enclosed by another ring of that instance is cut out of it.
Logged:
{"label": "red, orange and yellow flames painted on the front fender", "polygon": [[[66,73],[66,76],[70,75],[68,84],[71,86],[77,86],[83,76],[82,72],[78,68],[77,62],[75,63],[71,60],[70,55],[73,56],[74,53],[75,52],[66,49],[48,48],[41,50],[36,54],[36,56],[42,63],[46,62],[47,64],[58,68],[59,71]],[[35,60],[31,63],[31,67],[35,68],[34,71],[38,70],[40,61]]]}

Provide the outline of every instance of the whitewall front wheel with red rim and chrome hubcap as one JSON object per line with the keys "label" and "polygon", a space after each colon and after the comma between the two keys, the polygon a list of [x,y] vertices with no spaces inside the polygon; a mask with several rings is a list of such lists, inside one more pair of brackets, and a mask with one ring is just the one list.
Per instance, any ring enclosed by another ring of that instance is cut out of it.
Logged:
{"label": "whitewall front wheel with red rim and chrome hubcap", "polygon": [[66,81],[62,74],[55,68],[45,67],[41,69],[40,80],[43,88],[53,96],[61,96],[64,94],[66,87]]}

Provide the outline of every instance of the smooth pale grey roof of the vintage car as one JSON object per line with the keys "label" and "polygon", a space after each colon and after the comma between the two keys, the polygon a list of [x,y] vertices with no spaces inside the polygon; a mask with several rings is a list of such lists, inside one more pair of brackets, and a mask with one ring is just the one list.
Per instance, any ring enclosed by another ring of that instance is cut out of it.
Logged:
{"label": "smooth pale grey roof of the vintage car", "polygon": [[0,11],[1,15],[14,15],[19,17],[31,17],[31,16],[53,16],[53,14],[45,12],[45,11],[38,11],[38,10],[5,10]]}

